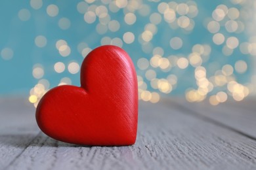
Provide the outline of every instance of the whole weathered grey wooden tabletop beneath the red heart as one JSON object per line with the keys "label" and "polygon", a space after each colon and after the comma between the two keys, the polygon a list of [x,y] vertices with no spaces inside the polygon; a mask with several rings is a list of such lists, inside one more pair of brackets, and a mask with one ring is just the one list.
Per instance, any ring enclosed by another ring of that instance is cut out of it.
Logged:
{"label": "whole weathered grey wooden tabletop beneath the red heart", "polygon": [[85,147],[44,135],[26,100],[0,98],[0,169],[256,169],[255,104],[140,102],[133,146]]}

